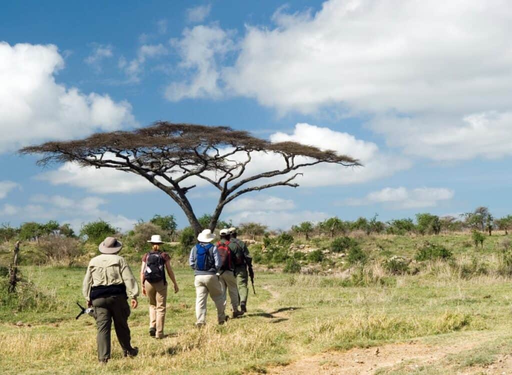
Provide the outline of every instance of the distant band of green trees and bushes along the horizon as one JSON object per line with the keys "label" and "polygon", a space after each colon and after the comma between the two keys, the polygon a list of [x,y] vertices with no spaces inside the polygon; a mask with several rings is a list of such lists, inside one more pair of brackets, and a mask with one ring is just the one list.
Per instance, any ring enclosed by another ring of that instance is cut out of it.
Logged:
{"label": "distant band of green trees and bushes along the horizon", "polygon": [[[207,227],[210,220],[209,215],[203,215],[199,222]],[[219,221],[218,228],[229,227],[231,222]],[[440,233],[458,232],[463,230],[481,231],[492,235],[494,230],[508,231],[512,228],[512,215],[502,218],[495,218],[487,207],[477,207],[474,211],[460,215],[460,217],[432,215],[429,213],[419,213],[415,219],[394,219],[390,221],[378,220],[378,215],[371,219],[360,217],[357,220],[342,220],[338,217],[331,217],[324,221],[313,223],[304,221],[293,225],[290,233],[295,233],[309,239],[311,236],[327,236],[334,238],[339,235],[347,235],[351,232],[359,231],[368,235],[391,234],[391,235],[437,235]],[[239,232],[246,238],[255,239],[265,234],[279,234],[282,231],[269,231],[264,223],[246,222],[239,224]],[[195,240],[194,231],[190,227],[177,230],[176,219],[173,215],[160,216],[155,215],[150,221],[139,221],[134,228],[123,234],[123,237],[129,240],[129,243],[142,246],[145,237],[150,237],[152,233],[161,233],[165,241],[179,240],[187,245]],[[22,241],[38,241],[41,237],[60,236],[68,238],[79,238],[89,242],[99,243],[103,238],[109,235],[120,235],[119,228],[101,219],[81,226],[80,232],[75,233],[70,224],[60,224],[51,220],[41,224],[37,222],[26,222],[18,227],[11,226],[9,223],[0,225],[0,241],[9,241],[12,239]]]}

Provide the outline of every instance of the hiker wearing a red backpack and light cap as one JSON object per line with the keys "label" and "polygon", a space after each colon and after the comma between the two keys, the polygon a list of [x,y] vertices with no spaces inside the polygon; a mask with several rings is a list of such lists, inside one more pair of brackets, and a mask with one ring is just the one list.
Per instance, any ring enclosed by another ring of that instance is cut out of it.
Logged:
{"label": "hiker wearing a red backpack and light cap", "polygon": [[224,228],[220,231],[220,241],[217,242],[217,251],[221,258],[221,269],[219,279],[222,286],[222,296],[224,298],[224,306],[227,304],[227,294],[231,302],[231,311],[233,318],[244,315],[243,311],[238,309],[240,297],[238,294],[237,277],[234,273],[235,259],[237,254],[242,251],[239,246],[230,241],[229,230]]}

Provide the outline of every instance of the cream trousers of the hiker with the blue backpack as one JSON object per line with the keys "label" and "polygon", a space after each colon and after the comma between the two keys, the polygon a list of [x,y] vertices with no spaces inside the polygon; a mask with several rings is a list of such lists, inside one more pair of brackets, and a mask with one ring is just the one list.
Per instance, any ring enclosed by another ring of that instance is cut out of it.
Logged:
{"label": "cream trousers of the hiker with the blue backpack", "polygon": [[222,286],[217,275],[196,275],[194,278],[196,287],[196,318],[197,324],[206,323],[206,301],[208,294],[214,301],[217,308],[217,321],[219,323],[226,319],[224,313],[224,299],[222,297]]}

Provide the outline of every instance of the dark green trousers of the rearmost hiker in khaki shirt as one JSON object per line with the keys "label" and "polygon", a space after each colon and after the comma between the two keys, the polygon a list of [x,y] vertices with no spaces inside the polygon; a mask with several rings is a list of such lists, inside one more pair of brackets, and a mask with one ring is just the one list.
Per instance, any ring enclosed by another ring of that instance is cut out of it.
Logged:
{"label": "dark green trousers of the rearmost hiker in khaki shirt", "polygon": [[104,361],[110,359],[110,331],[112,321],[116,330],[117,339],[124,351],[132,349],[130,344],[130,328],[128,327],[128,317],[130,316],[130,306],[126,296],[100,297],[93,300],[94,318],[98,334],[96,342],[98,344],[98,360]]}

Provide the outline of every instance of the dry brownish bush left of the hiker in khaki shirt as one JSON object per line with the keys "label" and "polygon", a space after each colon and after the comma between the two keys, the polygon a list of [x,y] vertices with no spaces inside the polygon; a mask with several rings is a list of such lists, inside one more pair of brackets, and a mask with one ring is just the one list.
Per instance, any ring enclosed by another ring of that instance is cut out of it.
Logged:
{"label": "dry brownish bush left of the hiker in khaki shirt", "polygon": [[39,250],[47,261],[71,266],[83,254],[83,246],[76,238],[48,235],[39,240]]}

